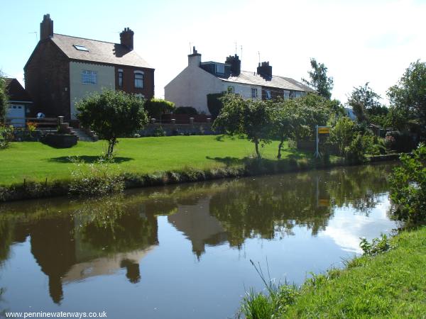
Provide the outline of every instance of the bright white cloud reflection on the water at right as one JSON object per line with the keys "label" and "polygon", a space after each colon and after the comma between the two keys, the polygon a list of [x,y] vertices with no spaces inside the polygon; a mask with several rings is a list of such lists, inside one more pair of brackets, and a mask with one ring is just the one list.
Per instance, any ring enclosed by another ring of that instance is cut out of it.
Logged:
{"label": "bright white cloud reflection on the water at right", "polygon": [[390,203],[386,198],[380,201],[375,208],[371,210],[368,217],[356,214],[358,211],[349,206],[348,208],[335,208],[334,218],[329,221],[326,230],[319,236],[331,237],[334,242],[347,252],[361,253],[359,247],[359,238],[366,237],[371,240],[378,237],[378,230],[390,232],[395,228],[395,222],[388,220],[386,212]]}

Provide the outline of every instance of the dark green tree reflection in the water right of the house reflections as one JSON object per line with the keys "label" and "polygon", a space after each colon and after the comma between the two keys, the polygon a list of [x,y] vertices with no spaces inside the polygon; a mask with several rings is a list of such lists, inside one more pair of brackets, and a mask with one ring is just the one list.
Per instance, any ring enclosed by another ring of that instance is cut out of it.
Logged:
{"label": "dark green tree reflection in the water right of the house reflections", "polygon": [[386,191],[386,166],[346,167],[331,171],[287,174],[281,177],[242,179],[212,196],[210,213],[228,233],[231,245],[246,238],[272,239],[305,226],[317,235],[324,230],[335,206],[351,204],[363,213]]}

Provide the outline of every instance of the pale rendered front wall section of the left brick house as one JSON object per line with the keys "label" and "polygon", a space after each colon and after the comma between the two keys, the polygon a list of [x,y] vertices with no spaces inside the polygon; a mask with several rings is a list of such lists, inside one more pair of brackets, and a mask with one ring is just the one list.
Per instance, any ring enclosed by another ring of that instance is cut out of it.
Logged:
{"label": "pale rendered front wall section of the left brick house", "polygon": [[[82,71],[96,71],[97,84],[83,84]],[[88,94],[102,89],[115,89],[114,67],[106,65],[94,65],[91,63],[70,62],[70,101],[71,118],[75,119],[75,102]]]}

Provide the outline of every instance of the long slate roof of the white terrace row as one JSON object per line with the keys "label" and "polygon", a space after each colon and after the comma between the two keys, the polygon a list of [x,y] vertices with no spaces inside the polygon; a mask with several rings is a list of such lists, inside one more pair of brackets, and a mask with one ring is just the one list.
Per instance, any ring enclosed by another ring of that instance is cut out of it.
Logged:
{"label": "long slate roof of the white terrace row", "polygon": [[238,77],[228,77],[221,78],[226,82],[258,85],[258,86],[270,86],[278,89],[293,90],[293,91],[306,91],[306,92],[315,92],[314,89],[311,89],[309,86],[297,82],[295,79],[290,77],[279,77],[278,75],[273,75],[271,80],[263,79],[259,74],[249,71],[241,71]]}

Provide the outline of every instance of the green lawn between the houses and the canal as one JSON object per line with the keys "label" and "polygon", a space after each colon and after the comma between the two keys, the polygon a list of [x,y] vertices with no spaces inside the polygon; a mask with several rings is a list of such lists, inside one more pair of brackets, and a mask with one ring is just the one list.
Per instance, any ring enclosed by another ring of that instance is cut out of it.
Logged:
{"label": "green lawn between the houses and the canal", "polygon": [[[70,156],[91,162],[106,149],[107,142],[78,142],[75,147],[56,149],[40,142],[12,142],[0,150],[0,185],[27,181],[70,178]],[[278,142],[261,149],[263,157],[275,159]],[[122,138],[116,147],[116,164],[122,172],[151,173],[182,170],[185,167],[207,169],[242,164],[253,155],[254,145],[241,138],[222,135],[173,136],[160,138]],[[283,158],[296,150],[285,149]]]}

